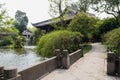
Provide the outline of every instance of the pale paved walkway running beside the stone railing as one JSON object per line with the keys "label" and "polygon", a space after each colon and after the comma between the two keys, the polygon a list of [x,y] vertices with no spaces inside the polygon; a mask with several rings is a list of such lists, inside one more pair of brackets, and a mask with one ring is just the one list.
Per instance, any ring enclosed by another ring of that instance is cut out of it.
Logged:
{"label": "pale paved walkway running beside the stone railing", "polygon": [[120,80],[106,74],[106,52],[100,43],[68,70],[57,69],[41,80]]}

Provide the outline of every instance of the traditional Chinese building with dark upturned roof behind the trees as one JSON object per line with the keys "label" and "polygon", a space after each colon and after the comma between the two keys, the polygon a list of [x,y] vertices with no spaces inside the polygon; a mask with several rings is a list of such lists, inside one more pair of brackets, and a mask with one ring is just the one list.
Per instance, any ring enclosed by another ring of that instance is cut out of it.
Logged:
{"label": "traditional Chinese building with dark upturned roof behind the trees", "polygon": [[[77,6],[74,4],[71,5],[71,9],[66,8],[64,10],[64,15],[67,15],[67,17],[64,18],[64,22],[66,24],[69,24],[73,17],[77,14],[77,12],[78,12]],[[35,26],[36,28],[45,30],[46,32],[50,32],[54,30],[54,26],[52,25],[53,23],[59,24],[60,23],[59,17],[42,22],[32,23],[32,25]]]}

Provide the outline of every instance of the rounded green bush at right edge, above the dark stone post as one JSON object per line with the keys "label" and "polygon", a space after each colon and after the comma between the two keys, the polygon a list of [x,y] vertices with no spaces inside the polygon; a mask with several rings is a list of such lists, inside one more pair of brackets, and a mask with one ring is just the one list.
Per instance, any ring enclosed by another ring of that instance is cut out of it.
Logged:
{"label": "rounded green bush at right edge, above the dark stone post", "polygon": [[112,47],[112,51],[120,56],[120,28],[108,32],[104,37],[104,41],[108,47]]}

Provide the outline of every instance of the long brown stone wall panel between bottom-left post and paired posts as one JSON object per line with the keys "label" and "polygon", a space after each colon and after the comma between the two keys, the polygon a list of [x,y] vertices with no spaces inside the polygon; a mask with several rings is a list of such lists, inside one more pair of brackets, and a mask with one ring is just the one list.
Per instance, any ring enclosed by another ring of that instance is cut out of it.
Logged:
{"label": "long brown stone wall panel between bottom-left post and paired posts", "polygon": [[55,70],[56,68],[56,57],[52,57],[48,60],[43,61],[40,64],[20,71],[19,74],[21,75],[22,80],[36,80],[39,77]]}

